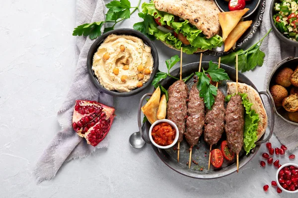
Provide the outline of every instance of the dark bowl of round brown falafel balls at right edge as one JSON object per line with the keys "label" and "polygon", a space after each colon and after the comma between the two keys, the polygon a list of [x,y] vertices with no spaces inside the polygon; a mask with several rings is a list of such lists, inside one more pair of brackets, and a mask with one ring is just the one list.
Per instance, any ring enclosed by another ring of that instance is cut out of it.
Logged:
{"label": "dark bowl of round brown falafel balls at right edge", "polygon": [[274,101],[275,112],[298,126],[298,57],[291,56],[275,65],[267,92]]}

